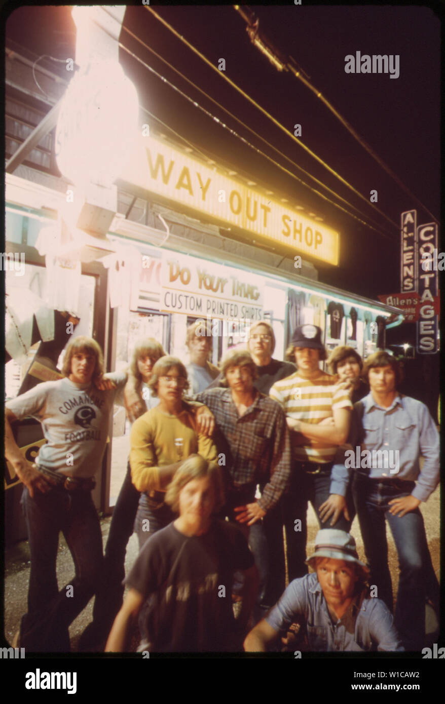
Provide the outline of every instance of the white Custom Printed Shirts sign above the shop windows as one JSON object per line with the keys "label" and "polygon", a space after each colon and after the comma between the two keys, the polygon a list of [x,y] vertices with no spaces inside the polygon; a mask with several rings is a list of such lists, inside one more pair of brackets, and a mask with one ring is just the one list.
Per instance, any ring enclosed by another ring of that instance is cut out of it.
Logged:
{"label": "white Custom Printed Shirts sign above the shop windows", "polygon": [[219,320],[261,320],[263,278],[228,266],[165,253],[160,310]]}

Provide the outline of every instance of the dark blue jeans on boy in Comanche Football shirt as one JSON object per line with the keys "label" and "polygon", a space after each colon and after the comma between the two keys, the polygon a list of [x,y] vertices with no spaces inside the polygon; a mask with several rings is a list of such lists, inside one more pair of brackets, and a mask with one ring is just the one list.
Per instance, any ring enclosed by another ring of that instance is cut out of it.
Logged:
{"label": "dark blue jeans on boy in Comanche Football shirt", "polygon": [[[22,507],[31,553],[28,612],[20,624],[20,646],[31,653],[69,653],[68,627],[100,584],[102,534],[91,491],[68,492],[56,486],[47,494],[25,487]],[[58,590],[58,535],[63,532],[75,577]],[[72,589],[69,589],[69,588]]]}

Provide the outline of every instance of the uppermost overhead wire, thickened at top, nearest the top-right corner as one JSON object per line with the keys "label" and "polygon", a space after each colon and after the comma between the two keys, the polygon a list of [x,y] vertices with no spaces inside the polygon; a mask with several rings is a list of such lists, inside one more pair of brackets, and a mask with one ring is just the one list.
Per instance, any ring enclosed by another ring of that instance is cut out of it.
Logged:
{"label": "uppermost overhead wire, thickened at top, nearest the top-right corner", "polygon": [[[242,18],[246,21],[246,23],[248,23],[248,27],[247,27],[248,32],[249,32],[249,28],[252,30],[253,27],[255,27],[256,32],[258,32],[258,20],[256,20],[256,23],[253,25],[252,24],[252,16],[249,17],[246,13],[244,13],[242,11],[242,9],[238,5],[234,5],[234,9],[237,12],[239,12],[239,14],[242,15]],[[250,36],[250,34],[251,34],[251,32],[249,32],[249,36]],[[251,39],[251,41],[253,42],[253,39]],[[272,49],[272,45],[270,44],[269,40],[265,39],[265,42],[267,43],[268,51],[271,53],[275,53],[274,50]],[[356,139],[356,141],[359,144],[361,144],[361,146],[363,146],[363,149],[365,149],[368,152],[368,154],[370,154],[370,156],[372,156],[372,158],[375,161],[377,161],[377,163],[382,167],[382,169],[384,171],[386,171],[387,174],[389,174],[389,176],[391,176],[392,179],[394,179],[396,184],[398,184],[399,187],[401,187],[401,189],[403,191],[405,191],[405,193],[408,194],[408,196],[410,196],[410,198],[412,198],[418,204],[418,206],[420,206],[423,210],[425,210],[425,212],[431,216],[431,218],[434,220],[434,222],[438,222],[437,219],[434,218],[434,215],[432,213],[430,213],[430,210],[428,210],[427,206],[425,206],[422,203],[422,201],[420,201],[420,199],[418,199],[418,197],[415,196],[410,191],[410,189],[403,183],[403,181],[401,181],[399,176],[383,161],[382,158],[380,158],[380,156],[378,156],[378,154],[374,151],[374,149],[372,149],[372,147],[367,142],[365,142],[363,137],[361,137],[361,135],[358,134],[358,132],[356,132],[356,130],[354,130],[352,125],[350,125],[349,122],[334,108],[334,106],[332,106],[332,104],[325,98],[325,96],[323,96],[320,93],[320,91],[317,88],[315,88],[315,86],[313,86],[311,84],[311,82],[308,80],[308,78],[301,75],[301,73],[304,73],[303,70],[299,66],[295,67],[294,65],[292,65],[292,61],[294,61],[294,59],[292,59],[292,56],[289,56],[287,63],[284,64],[284,70],[289,70],[296,78],[298,78],[306,86],[306,88],[311,90],[311,92],[313,92],[313,94],[315,94],[320,99],[320,101],[322,101],[322,103],[327,107],[327,109],[332,113],[332,115],[334,115],[337,118],[337,120],[339,120],[339,122],[341,122],[341,125],[346,127],[346,130],[348,130],[349,134],[352,134],[353,138]],[[274,63],[274,62],[271,62],[271,63]],[[274,65],[275,65],[275,63],[274,63]]]}

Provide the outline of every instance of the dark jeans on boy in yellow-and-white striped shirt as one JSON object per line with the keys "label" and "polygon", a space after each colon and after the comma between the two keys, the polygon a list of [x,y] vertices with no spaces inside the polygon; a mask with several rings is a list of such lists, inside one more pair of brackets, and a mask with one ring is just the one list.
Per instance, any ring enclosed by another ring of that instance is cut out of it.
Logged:
{"label": "dark jeans on boy in yellow-and-white striped shirt", "polygon": [[[308,541],[307,513],[308,502],[311,501],[318,518],[320,529],[331,528],[331,518],[325,523],[320,521],[320,506],[330,496],[332,464],[323,467],[319,474],[308,474],[305,467],[314,467],[311,463],[295,463],[289,491],[284,495],[284,525],[287,539],[287,571],[289,582],[308,573],[306,565],[306,543]],[[318,465],[315,465],[315,467]],[[351,491],[346,494],[346,503],[351,520],[347,521],[341,514],[332,526],[337,530],[349,533],[355,515]],[[296,524],[296,520],[301,523]],[[301,530],[296,530],[301,528]]]}

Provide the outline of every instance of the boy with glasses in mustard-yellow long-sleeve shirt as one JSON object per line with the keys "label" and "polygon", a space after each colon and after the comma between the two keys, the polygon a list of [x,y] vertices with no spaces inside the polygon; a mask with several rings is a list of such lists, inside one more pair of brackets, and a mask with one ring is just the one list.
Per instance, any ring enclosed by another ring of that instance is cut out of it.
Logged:
{"label": "boy with glasses in mustard-yellow long-sleeve shirt", "polygon": [[131,432],[132,482],[142,492],[134,524],[139,548],[151,534],[175,519],[165,504],[165,489],[184,460],[193,454],[210,462],[218,460],[212,439],[196,432],[195,417],[182,400],[188,386],[182,362],[170,356],[159,359],[149,386],[159,404],[139,417]]}

